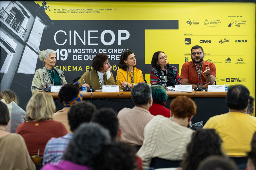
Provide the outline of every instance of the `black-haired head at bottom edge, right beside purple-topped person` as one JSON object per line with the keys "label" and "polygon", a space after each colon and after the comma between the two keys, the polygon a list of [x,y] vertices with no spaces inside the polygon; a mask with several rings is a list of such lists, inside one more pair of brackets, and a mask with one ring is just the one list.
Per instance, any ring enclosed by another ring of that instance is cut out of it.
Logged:
{"label": "black-haired head at bottom edge, right beside purple-topped person", "polygon": [[102,151],[97,170],[136,170],[137,157],[134,147],[123,142],[112,142]]}

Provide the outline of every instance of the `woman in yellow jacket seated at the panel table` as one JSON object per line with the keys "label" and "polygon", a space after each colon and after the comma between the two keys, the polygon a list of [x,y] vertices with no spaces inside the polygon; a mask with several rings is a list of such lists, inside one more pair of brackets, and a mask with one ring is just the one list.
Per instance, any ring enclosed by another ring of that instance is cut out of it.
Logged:
{"label": "woman in yellow jacket seated at the panel table", "polygon": [[[129,66],[127,70],[127,65]],[[116,83],[119,89],[126,87],[128,71],[128,87],[132,88],[135,84],[144,82],[142,71],[136,67],[136,58],[132,50],[126,50],[122,53],[118,64],[119,69],[116,74]]]}

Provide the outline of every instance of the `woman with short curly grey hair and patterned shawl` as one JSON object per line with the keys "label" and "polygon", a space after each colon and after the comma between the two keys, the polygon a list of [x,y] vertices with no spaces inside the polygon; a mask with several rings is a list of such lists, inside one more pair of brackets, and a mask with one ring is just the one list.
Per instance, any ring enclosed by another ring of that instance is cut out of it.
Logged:
{"label": "woman with short curly grey hair and patterned shawl", "polygon": [[44,67],[39,68],[35,72],[31,85],[32,95],[37,90],[46,88],[48,84],[59,86],[67,83],[63,71],[54,67],[57,61],[54,50],[47,49],[40,51],[38,58],[43,62]]}

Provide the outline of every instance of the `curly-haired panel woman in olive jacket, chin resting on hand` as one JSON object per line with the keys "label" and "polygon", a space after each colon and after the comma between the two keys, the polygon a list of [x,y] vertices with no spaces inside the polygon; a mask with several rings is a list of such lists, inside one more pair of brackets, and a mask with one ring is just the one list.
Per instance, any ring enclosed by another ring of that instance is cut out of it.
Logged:
{"label": "curly-haired panel woman in olive jacket, chin resting on hand", "polygon": [[[103,85],[116,85],[114,76],[110,71],[112,66],[108,61],[108,56],[106,54],[98,54],[92,59],[92,88],[102,89]],[[87,70],[82,77],[78,80],[79,83],[85,84],[89,87],[90,84],[90,71]]]}

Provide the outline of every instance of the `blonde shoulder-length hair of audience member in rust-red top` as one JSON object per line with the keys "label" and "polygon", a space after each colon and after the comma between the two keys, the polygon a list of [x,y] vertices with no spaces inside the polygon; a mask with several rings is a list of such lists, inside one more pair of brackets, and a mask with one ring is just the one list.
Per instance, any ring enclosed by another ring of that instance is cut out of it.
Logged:
{"label": "blonde shoulder-length hair of audience member in rust-red top", "polygon": [[26,106],[26,120],[52,120],[56,106],[51,95],[41,92],[33,95]]}

